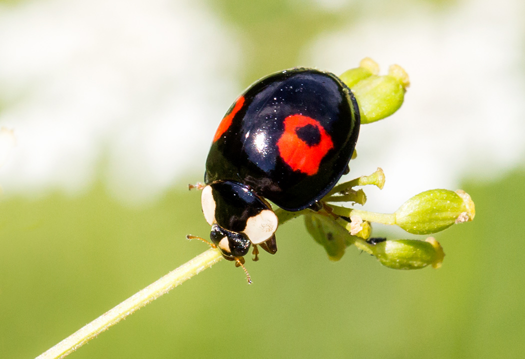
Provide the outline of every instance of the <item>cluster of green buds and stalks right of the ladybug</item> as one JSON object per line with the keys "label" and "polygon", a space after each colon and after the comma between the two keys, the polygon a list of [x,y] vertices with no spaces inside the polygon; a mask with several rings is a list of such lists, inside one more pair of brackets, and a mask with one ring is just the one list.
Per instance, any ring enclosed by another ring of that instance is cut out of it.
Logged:
{"label": "cluster of green buds and stalks right of the ladybug", "polygon": [[[378,73],[379,66],[366,58],[358,68],[350,69],[340,76],[355,94],[362,124],[383,119],[399,109],[409,85],[408,76],[400,66],[391,66],[388,75],[385,76],[379,76]],[[391,214],[334,204],[349,202],[363,205],[366,195],[363,189],[354,187],[375,185],[382,189],[384,183],[385,175],[381,168],[377,168],[377,171],[369,176],[361,176],[335,186],[321,200],[321,210],[301,211],[309,233],[325,248],[332,260],[339,260],[346,247],[355,245],[375,256],[388,268],[439,268],[445,253],[434,237],[425,240],[371,238],[371,223],[396,225],[415,235],[434,234],[452,225],[474,219],[474,202],[461,190],[454,192],[448,189],[430,189],[408,199]],[[288,219],[286,216],[283,218]]]}

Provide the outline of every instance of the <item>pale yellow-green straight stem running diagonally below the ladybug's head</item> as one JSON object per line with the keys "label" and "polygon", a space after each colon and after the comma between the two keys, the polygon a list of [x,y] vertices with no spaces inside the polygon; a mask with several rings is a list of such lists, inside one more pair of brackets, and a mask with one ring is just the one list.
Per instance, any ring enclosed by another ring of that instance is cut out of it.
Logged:
{"label": "pale yellow-green straight stem running diagonally below the ladybug's head", "polygon": [[117,305],[117,307],[110,309],[91,323],[83,326],[83,328],[71,334],[48,351],[37,356],[37,359],[57,359],[65,357],[110,326],[117,324],[131,313],[139,310],[161,295],[166,294],[179,284],[182,284],[204,269],[211,267],[221,259],[223,259],[223,256],[218,249],[208,249],[177,269],[167,273],[158,281],[151,283],[140,292],[135,293],[132,297]]}

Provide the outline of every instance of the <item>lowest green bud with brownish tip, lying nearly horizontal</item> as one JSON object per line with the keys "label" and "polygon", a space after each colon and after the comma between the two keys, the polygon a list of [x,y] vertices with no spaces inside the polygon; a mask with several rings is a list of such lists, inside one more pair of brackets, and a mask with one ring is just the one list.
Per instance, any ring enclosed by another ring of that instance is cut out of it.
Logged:
{"label": "lowest green bud with brownish tip, lying nearly horizontal", "polygon": [[386,240],[372,247],[373,255],[383,266],[392,269],[421,269],[428,265],[441,267],[445,253],[433,237],[425,241],[415,239]]}

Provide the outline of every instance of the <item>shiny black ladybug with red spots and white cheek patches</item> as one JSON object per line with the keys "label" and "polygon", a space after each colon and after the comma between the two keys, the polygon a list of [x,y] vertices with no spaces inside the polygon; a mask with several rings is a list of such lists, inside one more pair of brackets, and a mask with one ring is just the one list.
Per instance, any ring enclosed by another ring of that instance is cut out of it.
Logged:
{"label": "shiny black ladybug with red spots and white cheek patches", "polygon": [[319,210],[319,200],[348,173],[360,127],[354,95],[337,76],[310,68],[251,85],[220,122],[206,160],[202,210],[210,239],[244,263],[251,245],[275,254],[278,219]]}

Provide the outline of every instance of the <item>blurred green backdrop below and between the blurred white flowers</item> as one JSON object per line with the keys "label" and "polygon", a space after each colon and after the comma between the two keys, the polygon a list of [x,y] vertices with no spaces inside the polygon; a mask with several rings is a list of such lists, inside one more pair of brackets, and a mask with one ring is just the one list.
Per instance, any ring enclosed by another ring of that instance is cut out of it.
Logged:
{"label": "blurred green backdrop below and between the blurred white flowers", "polygon": [[[439,16],[457,3],[426,6]],[[203,5],[244,39],[244,86],[296,66],[307,41],[368,14],[359,2],[338,12],[314,2]],[[186,187],[203,165],[140,206],[114,199],[103,173],[77,195],[1,198],[0,358],[37,356],[206,250],[185,240],[209,231],[199,194]],[[476,218],[436,236],[446,253],[439,270],[390,270],[355,248],[331,262],[299,219],[279,229],[277,255],[247,262],[253,285],[222,261],[69,357],[525,357],[523,183],[522,166],[463,181]]]}

